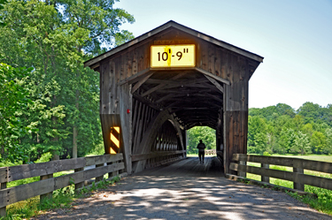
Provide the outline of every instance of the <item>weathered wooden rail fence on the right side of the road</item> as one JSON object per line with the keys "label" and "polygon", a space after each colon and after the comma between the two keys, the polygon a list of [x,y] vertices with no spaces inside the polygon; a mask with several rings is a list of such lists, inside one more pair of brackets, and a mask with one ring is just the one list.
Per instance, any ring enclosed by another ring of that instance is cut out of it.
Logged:
{"label": "weathered wooden rail fence on the right side of the road", "polygon": [[[238,171],[240,177],[245,177],[246,172],[249,172],[261,175],[261,181],[266,183],[269,183],[269,178],[281,178],[292,181],[294,189],[300,191],[305,190],[305,185],[332,190],[332,178],[321,178],[304,174],[304,170],[332,174],[332,163],[281,156],[251,156],[243,154],[233,155],[233,161],[239,163],[230,163],[229,169]],[[261,167],[246,165],[247,162],[260,163]],[[270,164],[292,167],[293,171],[269,169]]]}

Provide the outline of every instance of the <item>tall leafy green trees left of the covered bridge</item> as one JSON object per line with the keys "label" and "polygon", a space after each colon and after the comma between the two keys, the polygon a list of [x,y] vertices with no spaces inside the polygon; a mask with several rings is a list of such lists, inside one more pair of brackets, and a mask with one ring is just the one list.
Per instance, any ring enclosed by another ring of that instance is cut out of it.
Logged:
{"label": "tall leafy green trees left of the covered bridge", "polygon": [[[0,160],[28,163],[48,152],[68,158],[74,147],[85,156],[100,145],[102,135],[99,75],[83,62],[133,39],[120,26],[135,19],[114,8],[114,1],[0,1],[0,22],[6,24],[0,26],[0,62],[32,67],[12,71],[21,87],[15,88],[12,108],[6,108],[15,112],[7,114],[11,121],[1,118],[12,130],[3,135],[11,141],[1,143]],[[3,85],[2,80],[1,92]],[[14,97],[27,100],[14,102]],[[3,123],[0,130],[8,127]]]}

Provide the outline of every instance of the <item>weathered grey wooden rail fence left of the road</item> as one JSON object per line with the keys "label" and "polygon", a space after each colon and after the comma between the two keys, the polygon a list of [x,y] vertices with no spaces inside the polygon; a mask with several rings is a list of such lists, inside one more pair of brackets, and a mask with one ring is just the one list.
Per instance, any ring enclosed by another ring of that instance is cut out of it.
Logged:
{"label": "weathered grey wooden rail fence left of the road", "polygon": [[[5,216],[5,207],[12,203],[37,195],[41,195],[42,199],[51,196],[54,190],[70,186],[72,183],[75,184],[75,189],[78,189],[84,186],[85,180],[96,178],[96,181],[100,181],[106,173],[109,173],[110,177],[125,168],[122,160],[122,154],[117,154],[2,167],[0,168],[0,216]],[[104,166],[104,163],[107,165]],[[96,168],[84,171],[84,167],[90,165],[96,165]],[[53,173],[71,170],[74,170],[71,174],[53,178]],[[6,188],[9,182],[34,177],[41,177],[41,180]]]}

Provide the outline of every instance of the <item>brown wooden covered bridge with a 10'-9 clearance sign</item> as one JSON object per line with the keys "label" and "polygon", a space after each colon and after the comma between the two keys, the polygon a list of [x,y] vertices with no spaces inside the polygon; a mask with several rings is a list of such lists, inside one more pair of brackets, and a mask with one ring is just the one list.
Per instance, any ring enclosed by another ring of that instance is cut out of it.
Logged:
{"label": "brown wooden covered bridge with a 10'-9 clearance sign", "polygon": [[85,63],[100,73],[106,154],[123,153],[127,173],[186,156],[186,131],[216,130],[229,173],[247,151],[248,86],[263,57],[174,21]]}

